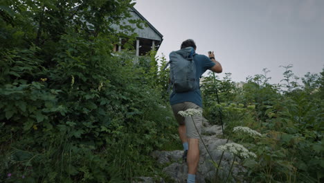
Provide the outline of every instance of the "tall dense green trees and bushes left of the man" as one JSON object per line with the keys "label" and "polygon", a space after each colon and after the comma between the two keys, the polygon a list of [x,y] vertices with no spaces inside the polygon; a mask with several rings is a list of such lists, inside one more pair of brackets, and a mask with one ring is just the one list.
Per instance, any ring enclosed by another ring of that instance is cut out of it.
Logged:
{"label": "tall dense green trees and bushes left of the man", "polygon": [[134,4],[4,2],[1,182],[130,182],[156,173],[149,154],[176,132],[157,62],[112,53],[118,37],[134,40],[130,26],[111,29]]}

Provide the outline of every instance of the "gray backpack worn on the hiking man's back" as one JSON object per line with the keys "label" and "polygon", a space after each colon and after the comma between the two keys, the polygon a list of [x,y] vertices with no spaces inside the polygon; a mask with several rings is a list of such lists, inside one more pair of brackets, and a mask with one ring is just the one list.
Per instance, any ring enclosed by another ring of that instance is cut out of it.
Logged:
{"label": "gray backpack worn on the hiking man's back", "polygon": [[[170,86],[176,93],[189,92],[199,88],[196,78],[196,64],[193,60],[195,51],[192,47],[170,53]],[[168,64],[165,66],[168,67]],[[169,90],[168,89],[168,90]]]}

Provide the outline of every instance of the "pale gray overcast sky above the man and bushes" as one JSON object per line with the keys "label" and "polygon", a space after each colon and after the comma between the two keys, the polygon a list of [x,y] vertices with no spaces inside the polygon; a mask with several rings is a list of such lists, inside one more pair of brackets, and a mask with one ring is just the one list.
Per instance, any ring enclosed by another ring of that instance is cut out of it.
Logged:
{"label": "pale gray overcast sky above the man and bushes", "polygon": [[167,59],[193,39],[197,53],[215,51],[223,73],[236,82],[293,64],[296,76],[324,67],[324,0],[138,0],[135,8],[163,35],[158,55]]}

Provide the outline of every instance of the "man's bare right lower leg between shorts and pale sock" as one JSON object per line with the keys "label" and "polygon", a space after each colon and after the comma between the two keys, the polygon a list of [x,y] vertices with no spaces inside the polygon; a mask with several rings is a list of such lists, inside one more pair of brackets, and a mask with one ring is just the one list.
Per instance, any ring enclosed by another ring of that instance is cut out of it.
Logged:
{"label": "man's bare right lower leg between shorts and pale sock", "polygon": [[197,173],[197,166],[199,163],[199,139],[188,139],[188,173],[195,175]]}

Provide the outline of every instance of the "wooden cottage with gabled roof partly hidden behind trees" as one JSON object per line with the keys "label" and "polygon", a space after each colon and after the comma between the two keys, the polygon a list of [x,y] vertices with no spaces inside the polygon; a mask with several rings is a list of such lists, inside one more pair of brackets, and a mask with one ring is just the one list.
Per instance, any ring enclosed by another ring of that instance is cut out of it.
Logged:
{"label": "wooden cottage with gabled roof partly hidden behind trees", "polygon": [[[143,26],[143,29],[138,28],[136,24],[130,24],[128,21],[124,21],[125,24],[132,26],[134,28],[134,32],[137,33],[138,37],[136,37],[136,42],[134,43],[134,48],[136,49],[136,55],[145,55],[147,52],[151,51],[152,49],[157,51],[159,46],[163,41],[163,35],[156,30],[152,24],[150,24],[143,15],[141,15],[138,10],[135,8],[130,8],[130,13],[132,15],[132,19],[141,19],[142,21],[147,24],[147,26]],[[115,26],[118,30],[118,26]],[[114,51],[121,51],[123,40],[120,39],[120,44],[116,44],[114,47]]]}

